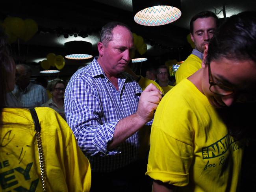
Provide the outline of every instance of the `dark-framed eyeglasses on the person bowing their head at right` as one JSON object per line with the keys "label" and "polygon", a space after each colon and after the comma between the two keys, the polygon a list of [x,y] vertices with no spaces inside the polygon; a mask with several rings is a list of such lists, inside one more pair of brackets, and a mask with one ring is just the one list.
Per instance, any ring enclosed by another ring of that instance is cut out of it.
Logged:
{"label": "dark-framed eyeglasses on the person bowing their head at right", "polygon": [[208,64],[208,78],[209,78],[209,84],[210,84],[210,91],[217,95],[230,95],[234,93],[234,90],[230,87],[226,87],[225,85],[220,85],[218,83],[213,82],[213,78],[211,75],[211,67],[210,63]]}

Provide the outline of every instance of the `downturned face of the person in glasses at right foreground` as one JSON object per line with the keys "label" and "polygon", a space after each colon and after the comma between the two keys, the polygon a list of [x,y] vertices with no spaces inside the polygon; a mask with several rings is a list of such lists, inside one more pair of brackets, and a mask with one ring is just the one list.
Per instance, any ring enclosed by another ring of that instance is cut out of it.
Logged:
{"label": "downturned face of the person in glasses at right foreground", "polygon": [[[203,62],[202,69],[202,91],[214,107],[229,107],[235,102],[241,102],[242,100],[243,102],[248,102],[251,98],[255,99],[255,62],[251,60],[234,61],[221,58],[210,63],[210,70],[209,65],[205,65]],[[223,92],[229,93],[231,90],[233,93],[227,95],[213,93],[210,90],[209,74],[210,82],[217,84],[214,85],[216,88],[211,88],[213,92],[222,90]]]}

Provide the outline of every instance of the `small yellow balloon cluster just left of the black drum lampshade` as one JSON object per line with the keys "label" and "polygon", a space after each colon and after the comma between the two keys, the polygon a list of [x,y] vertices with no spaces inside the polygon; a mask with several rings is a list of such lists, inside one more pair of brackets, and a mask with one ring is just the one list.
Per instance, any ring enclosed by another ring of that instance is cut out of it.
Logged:
{"label": "small yellow balloon cluster just left of the black drum lampshade", "polygon": [[62,55],[56,56],[54,53],[49,53],[46,58],[47,59],[41,61],[41,67],[44,70],[49,70],[51,66],[61,70],[65,66],[65,61]]}

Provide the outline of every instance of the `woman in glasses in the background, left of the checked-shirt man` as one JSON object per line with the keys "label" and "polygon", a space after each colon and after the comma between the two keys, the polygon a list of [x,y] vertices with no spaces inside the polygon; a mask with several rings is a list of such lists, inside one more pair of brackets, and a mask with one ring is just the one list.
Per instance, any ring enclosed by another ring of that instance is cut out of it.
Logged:
{"label": "woman in glasses in the background, left of the checked-shirt man", "polygon": [[61,79],[53,79],[47,85],[47,89],[52,94],[52,98],[48,100],[42,107],[50,107],[57,111],[64,119],[64,92],[65,92],[65,82]]}

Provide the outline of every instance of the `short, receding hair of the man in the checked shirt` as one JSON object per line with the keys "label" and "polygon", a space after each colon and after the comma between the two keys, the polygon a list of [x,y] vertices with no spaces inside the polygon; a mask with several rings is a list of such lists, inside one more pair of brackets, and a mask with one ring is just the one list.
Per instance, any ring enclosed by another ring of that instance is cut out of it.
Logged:
{"label": "short, receding hair of the man in the checked shirt", "polygon": [[108,22],[102,27],[102,30],[100,31],[100,42],[102,42],[105,46],[108,44],[109,41],[112,41],[112,31],[116,26],[121,26],[130,30],[130,27],[124,23],[117,21]]}

